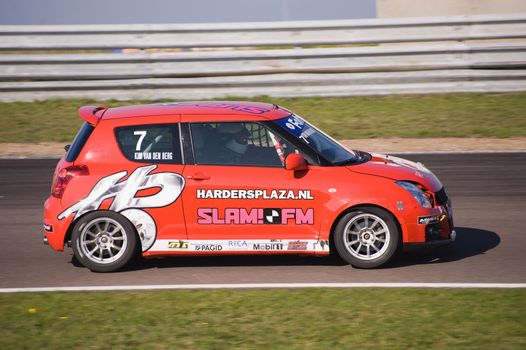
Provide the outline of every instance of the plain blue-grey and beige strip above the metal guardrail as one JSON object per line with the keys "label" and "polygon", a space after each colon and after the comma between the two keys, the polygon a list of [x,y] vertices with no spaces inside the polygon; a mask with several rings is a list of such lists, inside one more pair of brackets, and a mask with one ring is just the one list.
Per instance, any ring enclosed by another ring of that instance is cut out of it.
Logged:
{"label": "plain blue-grey and beige strip above the metal guardrail", "polygon": [[300,21],[526,12],[522,0],[2,0],[1,24]]}

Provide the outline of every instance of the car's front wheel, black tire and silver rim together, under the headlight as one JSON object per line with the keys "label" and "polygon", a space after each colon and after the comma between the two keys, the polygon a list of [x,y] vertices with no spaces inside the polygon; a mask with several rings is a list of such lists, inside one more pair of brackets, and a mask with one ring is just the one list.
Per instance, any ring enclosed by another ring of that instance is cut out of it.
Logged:
{"label": "car's front wheel, black tire and silver rim together, under the headlight", "polygon": [[340,257],[354,267],[372,269],[395,255],[400,230],[394,217],[376,207],[360,207],[345,214],[334,230]]}

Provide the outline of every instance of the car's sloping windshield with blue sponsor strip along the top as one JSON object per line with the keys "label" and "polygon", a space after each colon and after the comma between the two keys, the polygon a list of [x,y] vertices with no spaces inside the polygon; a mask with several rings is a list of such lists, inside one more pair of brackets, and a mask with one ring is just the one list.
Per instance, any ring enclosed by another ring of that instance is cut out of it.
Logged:
{"label": "car's sloping windshield with blue sponsor strip along the top", "polygon": [[333,165],[343,165],[358,161],[358,156],[354,152],[344,148],[333,138],[295,114],[276,119],[274,122]]}

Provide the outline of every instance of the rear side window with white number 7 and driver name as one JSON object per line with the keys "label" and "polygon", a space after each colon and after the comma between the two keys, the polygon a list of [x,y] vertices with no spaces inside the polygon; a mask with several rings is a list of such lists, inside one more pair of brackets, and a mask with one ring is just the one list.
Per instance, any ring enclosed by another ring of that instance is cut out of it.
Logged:
{"label": "rear side window with white number 7 and driver name", "polygon": [[179,125],[134,125],[115,129],[124,156],[141,163],[181,164]]}

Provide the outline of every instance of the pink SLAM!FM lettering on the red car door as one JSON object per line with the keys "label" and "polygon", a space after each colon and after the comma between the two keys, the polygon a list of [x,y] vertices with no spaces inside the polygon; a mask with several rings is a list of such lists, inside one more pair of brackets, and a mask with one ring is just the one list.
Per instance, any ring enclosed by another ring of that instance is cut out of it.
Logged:
{"label": "pink SLAM!FM lettering on the red car door", "polygon": [[313,208],[198,208],[200,225],[314,225]]}

